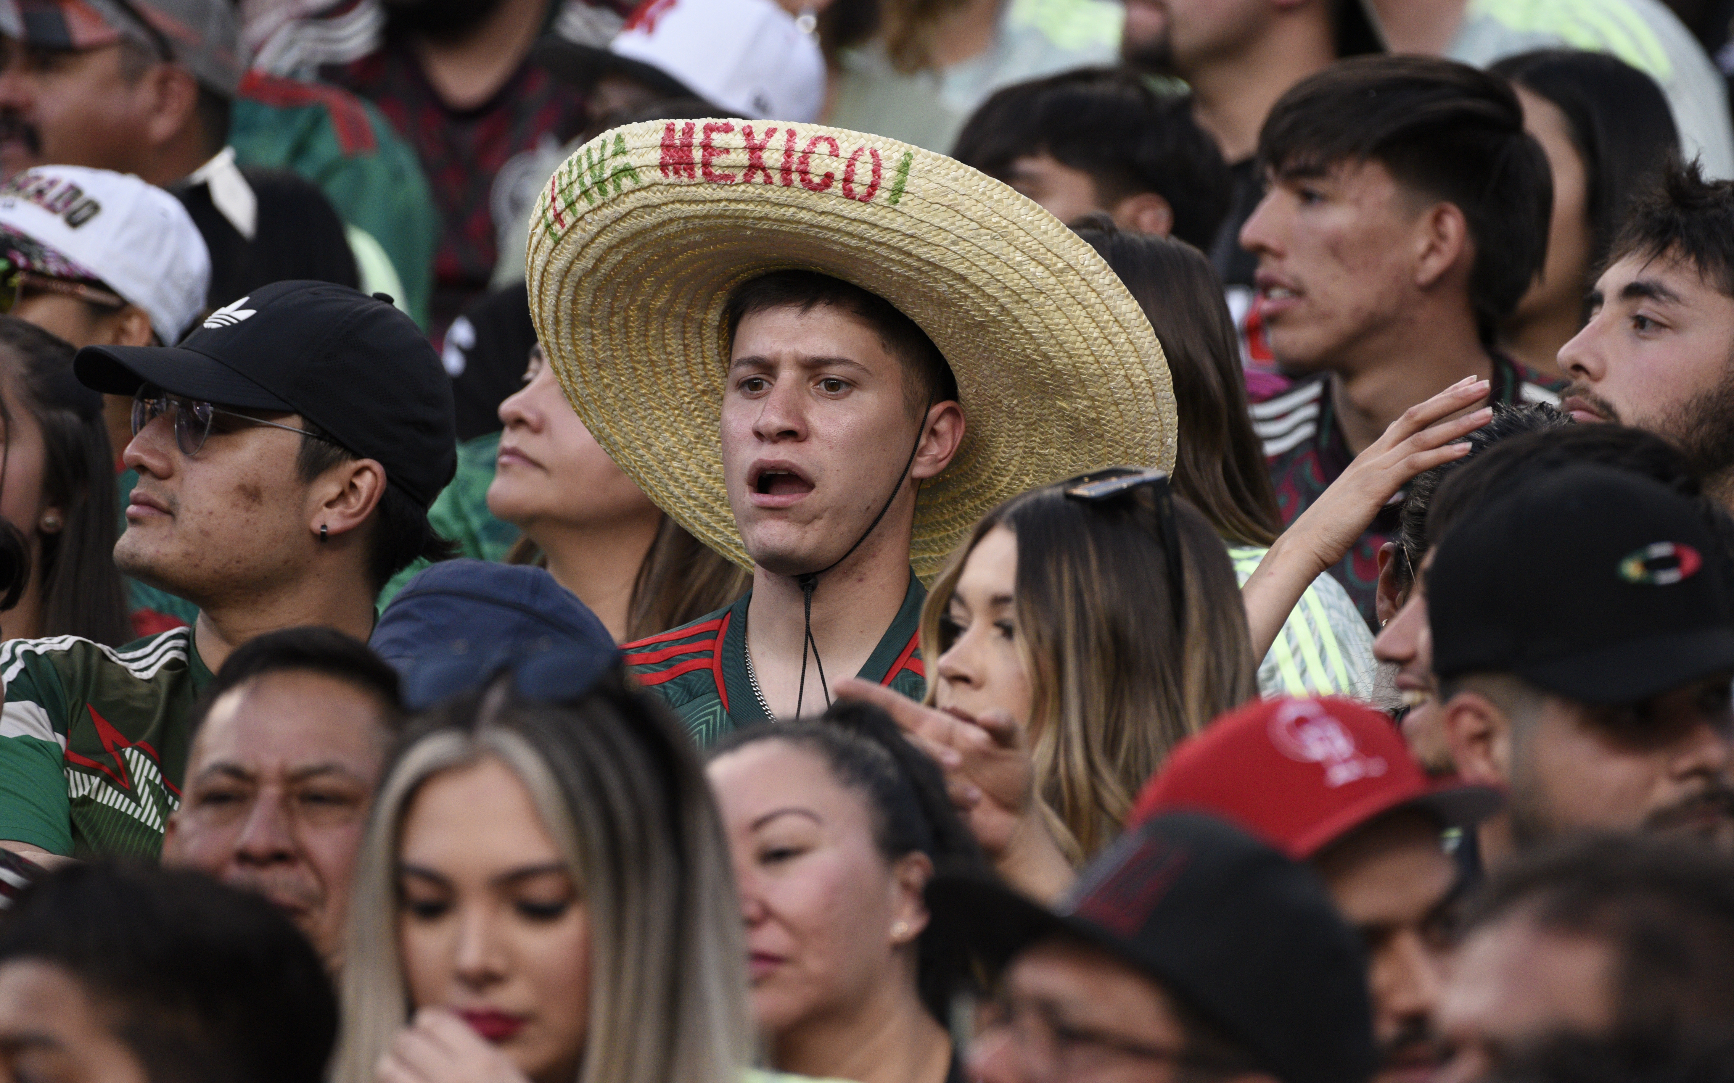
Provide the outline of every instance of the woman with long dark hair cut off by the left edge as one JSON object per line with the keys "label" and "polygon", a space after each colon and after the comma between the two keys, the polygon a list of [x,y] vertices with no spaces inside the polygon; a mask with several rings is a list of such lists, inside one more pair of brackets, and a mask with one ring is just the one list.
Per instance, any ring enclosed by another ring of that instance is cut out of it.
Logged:
{"label": "woman with long dark hair cut off by the left edge", "polygon": [[0,317],[0,638],[132,641],[114,568],[114,454],[73,350]]}

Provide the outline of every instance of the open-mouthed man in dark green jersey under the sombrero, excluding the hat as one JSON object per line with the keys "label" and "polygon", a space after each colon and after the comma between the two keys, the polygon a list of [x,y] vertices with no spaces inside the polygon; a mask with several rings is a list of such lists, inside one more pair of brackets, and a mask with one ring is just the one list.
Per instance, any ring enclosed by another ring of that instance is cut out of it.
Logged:
{"label": "open-mouthed man in dark green jersey under the sombrero, excluding the hat", "polygon": [[[737,289],[728,326],[723,471],[753,591],[723,613],[628,645],[626,662],[688,724],[723,704],[737,724],[796,717],[824,709],[825,683],[850,674],[919,698],[916,489],[945,470],[964,435],[945,359],[888,302],[810,270]],[[893,449],[909,457],[905,477],[879,496]],[[801,575],[824,568],[831,589],[815,589],[808,610]],[[806,662],[808,629],[815,650],[803,672],[791,660]],[[706,655],[714,665],[692,667]]]}

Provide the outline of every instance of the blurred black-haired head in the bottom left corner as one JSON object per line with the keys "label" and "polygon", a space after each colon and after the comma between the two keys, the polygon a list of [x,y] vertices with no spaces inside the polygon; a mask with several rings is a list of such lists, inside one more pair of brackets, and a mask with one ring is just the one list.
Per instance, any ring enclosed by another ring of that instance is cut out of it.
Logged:
{"label": "blurred black-haired head in the bottom left corner", "polygon": [[336,998],[265,901],[187,872],[71,865],[0,925],[0,1078],[319,1083]]}

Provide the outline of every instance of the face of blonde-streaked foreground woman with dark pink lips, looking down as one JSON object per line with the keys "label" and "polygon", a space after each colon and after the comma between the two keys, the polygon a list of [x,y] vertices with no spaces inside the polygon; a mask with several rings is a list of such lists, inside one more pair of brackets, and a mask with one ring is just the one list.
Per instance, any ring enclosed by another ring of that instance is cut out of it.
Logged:
{"label": "face of blonde-streaked foreground woman with dark pink lips, looking down", "polygon": [[456,1012],[536,1083],[576,1080],[590,920],[524,783],[492,757],[435,775],[401,837],[397,946],[414,1007]]}

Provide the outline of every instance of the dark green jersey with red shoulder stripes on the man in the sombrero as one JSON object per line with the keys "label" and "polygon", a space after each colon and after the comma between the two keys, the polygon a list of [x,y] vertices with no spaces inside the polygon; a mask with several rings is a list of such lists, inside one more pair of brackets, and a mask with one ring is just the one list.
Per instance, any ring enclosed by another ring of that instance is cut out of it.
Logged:
{"label": "dark green jersey with red shoulder stripes on the man in the sombrero", "polygon": [[[747,591],[727,610],[716,610],[638,643],[628,643],[626,667],[640,684],[655,691],[687,724],[687,733],[701,749],[721,740],[740,726],[770,721],[753,693],[747,678]],[[912,700],[928,693],[921,665],[921,603],[926,587],[914,575],[896,610],[891,627],[867,657],[858,676],[895,688]],[[817,684],[817,671],[812,674]]]}

